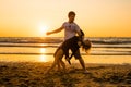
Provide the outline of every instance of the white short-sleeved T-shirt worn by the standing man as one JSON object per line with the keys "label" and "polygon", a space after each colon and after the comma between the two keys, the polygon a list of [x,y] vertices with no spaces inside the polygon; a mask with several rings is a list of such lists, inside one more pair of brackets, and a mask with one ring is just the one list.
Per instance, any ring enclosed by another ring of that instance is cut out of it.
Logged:
{"label": "white short-sleeved T-shirt worn by the standing man", "polygon": [[62,27],[64,28],[64,40],[72,38],[80,32],[80,27],[75,23],[64,22]]}

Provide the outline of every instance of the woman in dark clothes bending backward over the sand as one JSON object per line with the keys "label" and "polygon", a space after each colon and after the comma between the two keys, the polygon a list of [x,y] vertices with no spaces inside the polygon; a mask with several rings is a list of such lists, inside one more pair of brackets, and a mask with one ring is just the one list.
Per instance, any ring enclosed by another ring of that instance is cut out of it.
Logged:
{"label": "woman in dark clothes bending backward over the sand", "polygon": [[[60,71],[60,65],[63,67],[63,71],[66,72],[66,64],[62,61],[63,55],[66,55],[67,61],[70,63],[70,59],[75,55],[75,52],[79,50],[79,48],[82,47],[85,52],[88,52],[91,49],[91,41],[90,40],[83,40],[82,37],[74,36],[68,40],[66,40],[56,51],[55,53],[55,61],[51,65],[51,67],[47,71],[49,73],[56,65],[58,65],[58,70]],[[69,57],[69,50],[71,49],[72,54]],[[76,59],[76,58],[75,58]],[[87,73],[87,72],[85,72]]]}

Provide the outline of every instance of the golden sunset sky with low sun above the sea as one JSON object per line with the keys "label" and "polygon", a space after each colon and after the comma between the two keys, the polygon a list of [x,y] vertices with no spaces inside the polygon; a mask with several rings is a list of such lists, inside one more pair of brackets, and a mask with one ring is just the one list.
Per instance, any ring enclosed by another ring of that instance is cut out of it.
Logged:
{"label": "golden sunset sky with low sun above the sea", "polygon": [[0,37],[47,37],[69,11],[86,37],[131,37],[131,0],[0,0]]}

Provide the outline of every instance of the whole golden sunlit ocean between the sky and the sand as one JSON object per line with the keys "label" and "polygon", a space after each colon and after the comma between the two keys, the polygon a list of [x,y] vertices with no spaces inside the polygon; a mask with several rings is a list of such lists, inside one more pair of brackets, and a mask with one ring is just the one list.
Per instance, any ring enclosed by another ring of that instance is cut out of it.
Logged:
{"label": "whole golden sunlit ocean between the sky and the sand", "polygon": [[[85,63],[131,63],[131,37],[90,37],[92,49]],[[52,62],[62,37],[0,37],[0,62]],[[63,59],[64,60],[64,59]],[[73,58],[73,63],[78,61]]]}

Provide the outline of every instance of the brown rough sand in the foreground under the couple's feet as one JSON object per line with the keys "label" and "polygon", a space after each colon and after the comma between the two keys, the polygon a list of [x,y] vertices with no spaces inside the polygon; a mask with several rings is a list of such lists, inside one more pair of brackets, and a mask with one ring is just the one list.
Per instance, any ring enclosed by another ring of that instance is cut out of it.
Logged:
{"label": "brown rough sand in the foreground under the couple's feet", "polygon": [[84,74],[79,63],[67,64],[68,73],[52,70],[50,62],[0,62],[0,87],[129,87],[130,64],[86,64]]}

